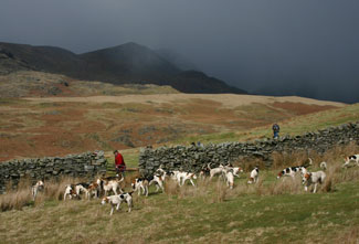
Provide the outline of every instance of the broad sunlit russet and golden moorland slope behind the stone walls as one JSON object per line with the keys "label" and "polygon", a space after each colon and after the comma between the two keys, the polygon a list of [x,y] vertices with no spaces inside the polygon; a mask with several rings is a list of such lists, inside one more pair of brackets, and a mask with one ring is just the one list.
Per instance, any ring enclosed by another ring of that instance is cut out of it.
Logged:
{"label": "broad sunlit russet and golden moorland slope behind the stone walls", "polygon": [[[316,114],[320,112],[324,114]],[[300,118],[300,127],[309,131],[319,124],[359,120],[358,107],[339,103],[181,93],[7,98],[0,99],[0,161],[96,149],[271,137],[272,123],[281,123],[286,132],[295,130],[297,126],[291,124]]]}

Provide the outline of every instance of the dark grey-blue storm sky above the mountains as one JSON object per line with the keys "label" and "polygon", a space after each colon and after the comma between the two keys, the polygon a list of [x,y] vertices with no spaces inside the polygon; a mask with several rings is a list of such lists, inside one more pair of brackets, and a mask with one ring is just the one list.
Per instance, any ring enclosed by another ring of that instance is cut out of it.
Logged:
{"label": "dark grey-blue storm sky above the mountains", "polygon": [[249,92],[359,102],[358,0],[0,0],[0,41],[170,49]]}

